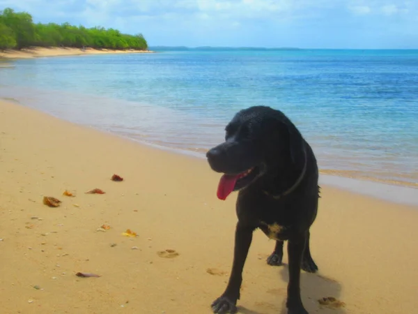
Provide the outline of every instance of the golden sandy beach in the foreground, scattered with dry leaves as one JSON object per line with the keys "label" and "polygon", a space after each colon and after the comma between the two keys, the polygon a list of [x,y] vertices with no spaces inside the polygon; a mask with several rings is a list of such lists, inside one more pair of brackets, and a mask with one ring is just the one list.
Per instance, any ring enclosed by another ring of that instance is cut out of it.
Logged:
{"label": "golden sandy beach in the foreground, scattered with dry leaves", "polygon": [[[236,195],[217,200],[219,175],[205,160],[4,102],[0,126],[1,313],[211,313],[230,271]],[[416,313],[416,209],[323,188],[311,231],[320,273],[302,274],[309,313]],[[96,231],[104,223],[111,229]],[[273,246],[255,232],[241,313],[286,313],[286,267],[265,263]],[[179,255],[157,254],[166,249]],[[321,297],[346,307],[321,308]]]}

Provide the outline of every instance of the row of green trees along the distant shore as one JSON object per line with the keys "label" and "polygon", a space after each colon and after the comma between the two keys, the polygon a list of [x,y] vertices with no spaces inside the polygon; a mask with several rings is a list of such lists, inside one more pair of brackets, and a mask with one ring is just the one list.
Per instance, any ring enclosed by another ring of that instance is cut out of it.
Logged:
{"label": "row of green trees along the distant shore", "polygon": [[33,23],[26,12],[11,8],[0,10],[0,50],[40,47],[92,47],[95,49],[146,50],[148,44],[141,33],[127,35],[116,29],[73,26],[68,23]]}

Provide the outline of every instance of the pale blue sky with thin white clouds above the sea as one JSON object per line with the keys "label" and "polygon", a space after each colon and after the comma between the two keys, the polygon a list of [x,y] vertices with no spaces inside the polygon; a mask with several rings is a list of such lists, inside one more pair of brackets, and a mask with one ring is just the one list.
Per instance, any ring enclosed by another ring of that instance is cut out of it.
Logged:
{"label": "pale blue sky with thin white clouds above the sea", "polygon": [[418,48],[418,0],[0,0],[35,22],[143,33],[149,45]]}

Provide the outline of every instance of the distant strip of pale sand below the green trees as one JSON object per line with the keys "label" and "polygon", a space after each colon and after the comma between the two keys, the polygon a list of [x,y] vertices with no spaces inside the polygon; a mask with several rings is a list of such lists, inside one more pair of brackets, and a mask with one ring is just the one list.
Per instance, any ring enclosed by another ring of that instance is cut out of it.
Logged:
{"label": "distant strip of pale sand below the green trees", "polygon": [[110,50],[74,47],[31,47],[22,50],[0,50],[1,59],[31,59],[42,57],[84,56],[88,54],[150,54],[151,50]]}

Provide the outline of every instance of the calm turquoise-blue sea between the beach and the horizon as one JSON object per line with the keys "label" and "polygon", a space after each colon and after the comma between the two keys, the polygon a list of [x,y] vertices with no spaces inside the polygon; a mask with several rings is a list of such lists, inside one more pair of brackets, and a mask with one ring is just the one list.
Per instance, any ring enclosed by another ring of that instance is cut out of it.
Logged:
{"label": "calm turquoise-blue sea between the beach and the horizon", "polygon": [[268,105],[300,128],[323,172],[418,186],[418,50],[22,59],[0,67],[0,98],[197,156],[235,112]]}

